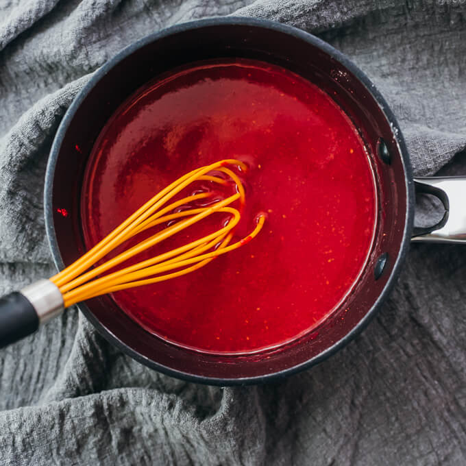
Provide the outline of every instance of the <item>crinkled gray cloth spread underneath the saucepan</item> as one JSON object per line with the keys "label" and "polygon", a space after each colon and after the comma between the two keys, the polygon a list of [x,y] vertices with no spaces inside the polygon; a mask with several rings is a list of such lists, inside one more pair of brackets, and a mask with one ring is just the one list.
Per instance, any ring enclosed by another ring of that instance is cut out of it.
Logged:
{"label": "crinkled gray cloth spread underneath the saucepan", "polygon": [[[416,174],[452,159],[443,172],[466,174],[464,1],[1,1],[0,293],[53,272],[45,164],[93,71],[162,27],[226,14],[328,40],[389,101]],[[147,369],[71,309],[0,352],[0,464],[465,464],[465,315],[466,247],[413,245],[343,351],[280,384],[222,389]]]}

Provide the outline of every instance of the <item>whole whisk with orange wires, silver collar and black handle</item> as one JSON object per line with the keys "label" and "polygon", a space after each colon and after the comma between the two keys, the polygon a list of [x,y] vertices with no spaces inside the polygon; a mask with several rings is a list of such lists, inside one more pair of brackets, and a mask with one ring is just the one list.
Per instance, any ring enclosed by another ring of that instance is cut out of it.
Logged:
{"label": "whole whisk with orange wires, silver collar and black handle", "polygon": [[[245,204],[243,184],[232,167],[237,167],[243,172],[247,171],[247,166],[240,160],[227,159],[186,173],[147,201],[69,267],[53,275],[49,280],[38,280],[21,291],[2,297],[0,347],[35,332],[40,324],[59,315],[64,308],[77,302],[179,277],[204,267],[221,254],[238,249],[251,241],[264,225],[265,215],[258,214],[256,226],[248,236],[241,241],[231,243]],[[182,191],[199,181],[211,182],[227,188],[231,186],[234,193],[228,197],[208,199],[214,197],[213,191],[195,191],[185,197],[176,197],[182,196]],[[199,206],[201,199],[205,199],[206,205]],[[232,207],[236,201],[238,208]],[[217,212],[228,214],[228,219],[218,230],[175,249],[112,271],[137,254]],[[164,228],[156,230],[154,227],[158,225]],[[105,256],[115,252],[115,249],[123,243],[149,229],[154,229],[156,232],[106,262],[102,262]]]}

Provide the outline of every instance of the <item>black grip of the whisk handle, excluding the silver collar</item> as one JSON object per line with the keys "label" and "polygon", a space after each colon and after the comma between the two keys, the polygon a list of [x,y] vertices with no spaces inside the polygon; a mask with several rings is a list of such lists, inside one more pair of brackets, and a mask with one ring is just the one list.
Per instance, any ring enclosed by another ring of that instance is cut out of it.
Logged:
{"label": "black grip of the whisk handle, excluding the silver collar", "polygon": [[39,317],[25,295],[14,291],[0,298],[0,347],[5,347],[39,328]]}

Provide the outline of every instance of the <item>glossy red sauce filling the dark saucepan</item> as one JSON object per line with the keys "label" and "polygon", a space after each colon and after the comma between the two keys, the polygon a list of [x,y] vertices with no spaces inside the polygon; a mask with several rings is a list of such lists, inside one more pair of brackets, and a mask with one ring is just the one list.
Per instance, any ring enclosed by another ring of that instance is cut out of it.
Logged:
{"label": "glossy red sauce filling the dark saucepan", "polygon": [[[250,167],[238,238],[261,211],[268,215],[262,232],[198,271],[112,299],[172,343],[254,352],[326,319],[352,289],[373,241],[369,157],[317,86],[249,60],[195,64],[145,86],[95,144],[82,197],[84,236],[94,245],[177,177],[223,158]],[[221,219],[211,222],[213,231]]]}

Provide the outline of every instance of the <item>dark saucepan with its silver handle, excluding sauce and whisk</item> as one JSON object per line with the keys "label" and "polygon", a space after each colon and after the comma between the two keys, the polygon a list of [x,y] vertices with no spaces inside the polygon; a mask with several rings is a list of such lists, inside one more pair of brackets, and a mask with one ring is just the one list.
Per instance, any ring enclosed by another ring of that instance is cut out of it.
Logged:
{"label": "dark saucepan with its silver handle, excluding sauce and whisk", "polygon": [[[229,57],[278,64],[332,96],[358,128],[371,156],[378,185],[378,224],[367,265],[339,310],[321,324],[317,337],[312,332],[278,349],[241,356],[193,352],[145,331],[109,296],[79,304],[112,345],[140,363],[177,378],[219,385],[266,382],[320,363],[376,314],[400,273],[410,241],[466,242],[466,179],[413,179],[393,113],[376,86],[346,56],[315,36],[279,23],[207,19],[130,45],[91,77],[66,112],[45,180],[47,236],[59,269],[85,251],[79,219],[84,171],[99,132],[116,108],[162,73],[198,60]],[[415,191],[440,199],[444,214],[439,223],[413,226]],[[343,315],[343,310],[349,312]]]}

